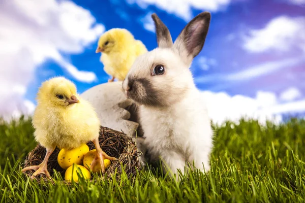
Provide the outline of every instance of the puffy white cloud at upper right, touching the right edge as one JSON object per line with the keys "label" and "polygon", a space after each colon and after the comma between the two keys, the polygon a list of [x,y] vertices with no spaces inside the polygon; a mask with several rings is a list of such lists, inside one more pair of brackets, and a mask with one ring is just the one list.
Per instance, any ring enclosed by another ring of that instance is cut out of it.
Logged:
{"label": "puffy white cloud at upper right, touching the right edge", "polygon": [[280,16],[262,29],[250,31],[243,47],[250,52],[297,49],[305,52],[305,17]]}

